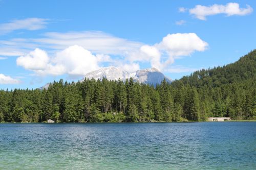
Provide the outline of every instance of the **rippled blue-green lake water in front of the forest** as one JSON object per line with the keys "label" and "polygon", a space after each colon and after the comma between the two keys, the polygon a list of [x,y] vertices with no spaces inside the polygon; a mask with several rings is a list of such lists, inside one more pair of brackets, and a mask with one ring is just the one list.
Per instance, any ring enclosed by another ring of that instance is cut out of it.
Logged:
{"label": "rippled blue-green lake water in front of the forest", "polygon": [[0,124],[0,169],[256,169],[256,122]]}

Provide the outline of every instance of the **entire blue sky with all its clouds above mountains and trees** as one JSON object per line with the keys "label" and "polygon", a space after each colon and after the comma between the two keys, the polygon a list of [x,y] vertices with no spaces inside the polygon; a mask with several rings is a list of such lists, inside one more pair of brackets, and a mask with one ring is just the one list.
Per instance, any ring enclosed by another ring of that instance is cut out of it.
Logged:
{"label": "entire blue sky with all its clouds above mountains and trees", "polygon": [[255,1],[0,0],[0,89],[115,65],[179,79],[255,49]]}

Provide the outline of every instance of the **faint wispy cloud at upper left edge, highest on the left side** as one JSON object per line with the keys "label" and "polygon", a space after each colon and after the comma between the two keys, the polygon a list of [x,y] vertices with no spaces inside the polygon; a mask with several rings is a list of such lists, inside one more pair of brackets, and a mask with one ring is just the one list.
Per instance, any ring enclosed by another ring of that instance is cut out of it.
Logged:
{"label": "faint wispy cloud at upper left edge, highest on the left side", "polygon": [[40,30],[47,25],[47,20],[44,18],[26,18],[12,20],[8,23],[0,24],[0,35],[7,34],[15,30]]}

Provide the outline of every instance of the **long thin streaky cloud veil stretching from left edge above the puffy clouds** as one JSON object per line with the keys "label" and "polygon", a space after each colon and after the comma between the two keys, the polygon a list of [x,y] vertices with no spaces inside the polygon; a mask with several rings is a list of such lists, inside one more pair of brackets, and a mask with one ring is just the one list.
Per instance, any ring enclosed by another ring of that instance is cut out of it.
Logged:
{"label": "long thin streaky cloud veil stretching from left edge above the puffy clouds", "polygon": [[72,45],[79,45],[93,54],[128,56],[144,45],[100,31],[80,31],[67,33],[46,33],[42,38],[14,38],[0,40],[0,56],[21,56],[36,47],[48,48],[49,54]]}

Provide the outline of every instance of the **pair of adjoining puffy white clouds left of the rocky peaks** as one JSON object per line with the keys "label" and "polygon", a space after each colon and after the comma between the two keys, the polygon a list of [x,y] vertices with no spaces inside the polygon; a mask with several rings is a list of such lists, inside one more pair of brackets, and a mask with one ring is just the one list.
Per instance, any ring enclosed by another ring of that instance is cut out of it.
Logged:
{"label": "pair of adjoining puffy white clouds left of the rocky peaks", "polygon": [[97,57],[81,46],[73,45],[50,58],[47,52],[36,48],[16,60],[17,65],[32,70],[37,75],[84,76],[99,68]]}

